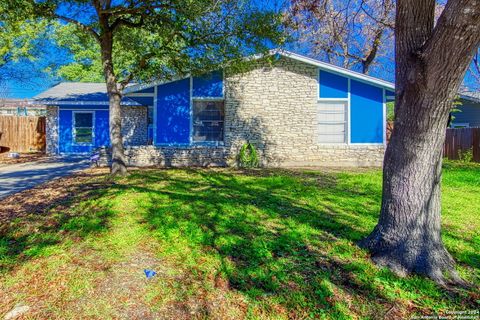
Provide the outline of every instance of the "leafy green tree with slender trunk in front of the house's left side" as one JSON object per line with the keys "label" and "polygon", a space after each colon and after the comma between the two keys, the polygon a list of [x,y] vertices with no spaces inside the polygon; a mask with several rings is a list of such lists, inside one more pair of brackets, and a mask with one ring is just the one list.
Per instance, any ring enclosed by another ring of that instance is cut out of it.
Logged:
{"label": "leafy green tree with slender trunk in front of the house's left side", "polygon": [[100,69],[110,99],[112,174],[126,172],[120,101],[130,82],[210,71],[282,39],[280,17],[247,0],[13,0],[10,4],[65,27],[58,40],[70,46],[74,62],[60,68],[61,75],[96,80]]}

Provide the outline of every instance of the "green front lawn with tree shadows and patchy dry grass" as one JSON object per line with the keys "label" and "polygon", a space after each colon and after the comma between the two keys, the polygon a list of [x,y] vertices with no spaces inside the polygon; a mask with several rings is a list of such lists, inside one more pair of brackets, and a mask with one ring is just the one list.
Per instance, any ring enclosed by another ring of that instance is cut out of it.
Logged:
{"label": "green front lawn with tree shadows and patchy dry grass", "polygon": [[[397,319],[480,304],[480,166],[447,163],[443,237],[473,289],[379,269],[355,243],[381,172],[136,170],[13,217],[0,238],[0,316]],[[146,280],[143,269],[157,275]]]}

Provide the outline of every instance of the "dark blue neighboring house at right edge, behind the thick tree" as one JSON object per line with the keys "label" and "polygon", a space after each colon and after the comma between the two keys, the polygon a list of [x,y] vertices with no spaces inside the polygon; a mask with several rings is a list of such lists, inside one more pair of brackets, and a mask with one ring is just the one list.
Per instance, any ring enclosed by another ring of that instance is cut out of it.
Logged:
{"label": "dark blue neighboring house at right edge, behind the thick tree", "polygon": [[460,94],[461,105],[456,106],[459,112],[453,112],[452,128],[480,127],[480,92],[464,92]]}

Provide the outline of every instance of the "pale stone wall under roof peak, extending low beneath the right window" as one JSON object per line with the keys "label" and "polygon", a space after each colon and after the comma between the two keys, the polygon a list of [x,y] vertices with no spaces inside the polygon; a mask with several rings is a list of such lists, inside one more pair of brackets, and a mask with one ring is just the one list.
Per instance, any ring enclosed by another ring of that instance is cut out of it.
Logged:
{"label": "pale stone wall under roof peak, extending low beneath the right window", "polygon": [[253,143],[264,166],[378,166],[383,145],[318,143],[317,68],[289,58],[227,76],[225,146],[229,163]]}

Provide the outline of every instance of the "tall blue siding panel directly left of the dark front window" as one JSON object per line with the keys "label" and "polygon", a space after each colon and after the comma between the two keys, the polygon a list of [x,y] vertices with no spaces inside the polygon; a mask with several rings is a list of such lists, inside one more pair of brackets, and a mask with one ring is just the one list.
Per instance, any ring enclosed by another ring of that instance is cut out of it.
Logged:
{"label": "tall blue siding panel directly left of the dark front window", "polygon": [[190,143],[190,79],[158,86],[157,144]]}

